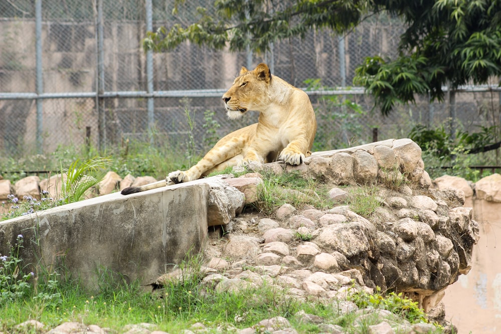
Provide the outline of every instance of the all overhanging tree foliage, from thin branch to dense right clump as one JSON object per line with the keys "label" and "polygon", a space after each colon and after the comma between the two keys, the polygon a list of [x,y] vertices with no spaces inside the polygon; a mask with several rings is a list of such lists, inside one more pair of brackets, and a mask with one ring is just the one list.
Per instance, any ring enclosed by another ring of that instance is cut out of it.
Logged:
{"label": "all overhanging tree foliage, from thin branch to dense right clump", "polygon": [[[176,8],[182,0],[176,0]],[[355,85],[388,114],[414,94],[442,101],[442,87],[484,84],[501,74],[501,0],[214,0],[215,15],[198,8],[198,21],[160,28],[147,49],[173,49],[189,40],[215,49],[264,51],[271,42],[304,37],[309,29],[344,33],[370,15],[388,12],[407,24],[396,59],[369,57]],[[498,79],[497,79],[498,80]]]}

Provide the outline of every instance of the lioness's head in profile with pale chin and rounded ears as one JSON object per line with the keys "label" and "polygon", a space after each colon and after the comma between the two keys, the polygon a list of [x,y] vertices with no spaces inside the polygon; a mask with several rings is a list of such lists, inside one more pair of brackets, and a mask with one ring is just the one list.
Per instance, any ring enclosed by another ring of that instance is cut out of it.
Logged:
{"label": "lioness's head in profile with pale chin and rounded ears", "polygon": [[266,64],[259,64],[252,71],[242,67],[233,86],[222,96],[228,118],[240,118],[248,110],[259,111],[265,105],[265,92],[271,80],[272,75]]}

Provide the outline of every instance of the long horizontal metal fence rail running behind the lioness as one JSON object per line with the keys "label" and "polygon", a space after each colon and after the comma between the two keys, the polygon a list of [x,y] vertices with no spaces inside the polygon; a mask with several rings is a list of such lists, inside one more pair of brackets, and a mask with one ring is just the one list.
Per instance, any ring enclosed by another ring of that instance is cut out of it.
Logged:
{"label": "long horizontal metal fence rail running behind the lioness", "polygon": [[[445,92],[449,89],[442,88]],[[310,96],[320,95],[363,95],[366,94],[363,87],[336,87],[321,90],[303,90]],[[78,98],[183,98],[183,97],[220,97],[226,89],[196,89],[196,90],[172,90],[172,91],[119,91],[119,92],[71,92],[71,93],[0,93],[0,100],[32,100],[32,99],[78,99]],[[457,93],[466,92],[501,92],[501,87],[495,85],[460,86],[454,90]]]}

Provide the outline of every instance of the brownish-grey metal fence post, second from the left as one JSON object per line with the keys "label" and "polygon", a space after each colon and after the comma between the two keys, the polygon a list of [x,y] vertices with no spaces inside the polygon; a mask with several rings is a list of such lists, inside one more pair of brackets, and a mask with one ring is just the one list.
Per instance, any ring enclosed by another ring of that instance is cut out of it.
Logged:
{"label": "brownish-grey metal fence post, second from the left", "polygon": [[97,94],[96,108],[98,114],[98,146],[99,151],[106,147],[106,113],[104,112],[104,49],[103,49],[103,0],[97,2]]}

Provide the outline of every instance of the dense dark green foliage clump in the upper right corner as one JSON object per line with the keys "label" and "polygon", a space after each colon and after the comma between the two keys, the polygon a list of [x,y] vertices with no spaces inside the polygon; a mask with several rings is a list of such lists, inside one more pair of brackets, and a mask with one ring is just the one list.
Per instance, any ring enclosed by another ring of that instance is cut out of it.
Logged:
{"label": "dense dark green foliage clump in the upper right corner", "polygon": [[[371,57],[356,69],[383,114],[397,102],[414,102],[414,94],[442,101],[448,86],[485,84],[501,74],[501,1],[375,0],[374,10],[402,17],[397,59]],[[497,78],[498,80],[498,78]]]}

